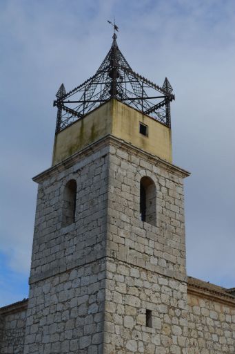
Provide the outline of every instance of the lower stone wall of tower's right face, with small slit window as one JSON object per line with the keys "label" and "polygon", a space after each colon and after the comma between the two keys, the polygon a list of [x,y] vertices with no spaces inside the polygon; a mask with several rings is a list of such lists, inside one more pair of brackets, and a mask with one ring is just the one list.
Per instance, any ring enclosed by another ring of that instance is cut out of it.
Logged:
{"label": "lower stone wall of tower's right face, with small slit window", "polygon": [[185,283],[121,261],[109,259],[107,266],[103,353],[185,354]]}

